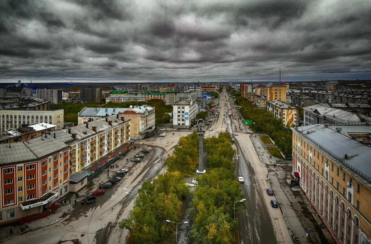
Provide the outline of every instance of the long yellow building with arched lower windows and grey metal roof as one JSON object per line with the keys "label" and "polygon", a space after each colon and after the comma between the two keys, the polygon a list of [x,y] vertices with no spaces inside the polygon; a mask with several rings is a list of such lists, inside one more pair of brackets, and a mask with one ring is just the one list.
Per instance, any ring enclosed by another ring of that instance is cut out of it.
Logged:
{"label": "long yellow building with arched lower windows and grey metal roof", "polygon": [[336,242],[370,243],[370,129],[361,142],[342,129],[359,126],[292,128],[292,175]]}

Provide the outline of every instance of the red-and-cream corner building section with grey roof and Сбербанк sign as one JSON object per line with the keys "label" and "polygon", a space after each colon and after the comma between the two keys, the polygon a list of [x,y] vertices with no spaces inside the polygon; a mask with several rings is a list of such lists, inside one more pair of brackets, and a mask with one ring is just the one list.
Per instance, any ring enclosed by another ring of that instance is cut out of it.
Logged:
{"label": "red-and-cream corner building section with grey roof and \u0421\u0431\u0435\u0440\u0431\u0430\u043d\u043a sign", "polygon": [[69,192],[69,147],[47,134],[0,144],[0,224],[37,214]]}

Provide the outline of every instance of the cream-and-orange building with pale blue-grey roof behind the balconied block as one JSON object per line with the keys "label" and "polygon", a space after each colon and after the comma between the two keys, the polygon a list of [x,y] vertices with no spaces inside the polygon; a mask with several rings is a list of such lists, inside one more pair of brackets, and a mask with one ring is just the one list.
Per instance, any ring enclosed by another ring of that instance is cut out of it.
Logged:
{"label": "cream-and-orange building with pale blue-grey roof behind the balconied block", "polygon": [[131,138],[143,139],[152,135],[155,129],[155,108],[148,105],[134,108],[83,108],[78,113],[78,124],[119,114],[131,120]]}

